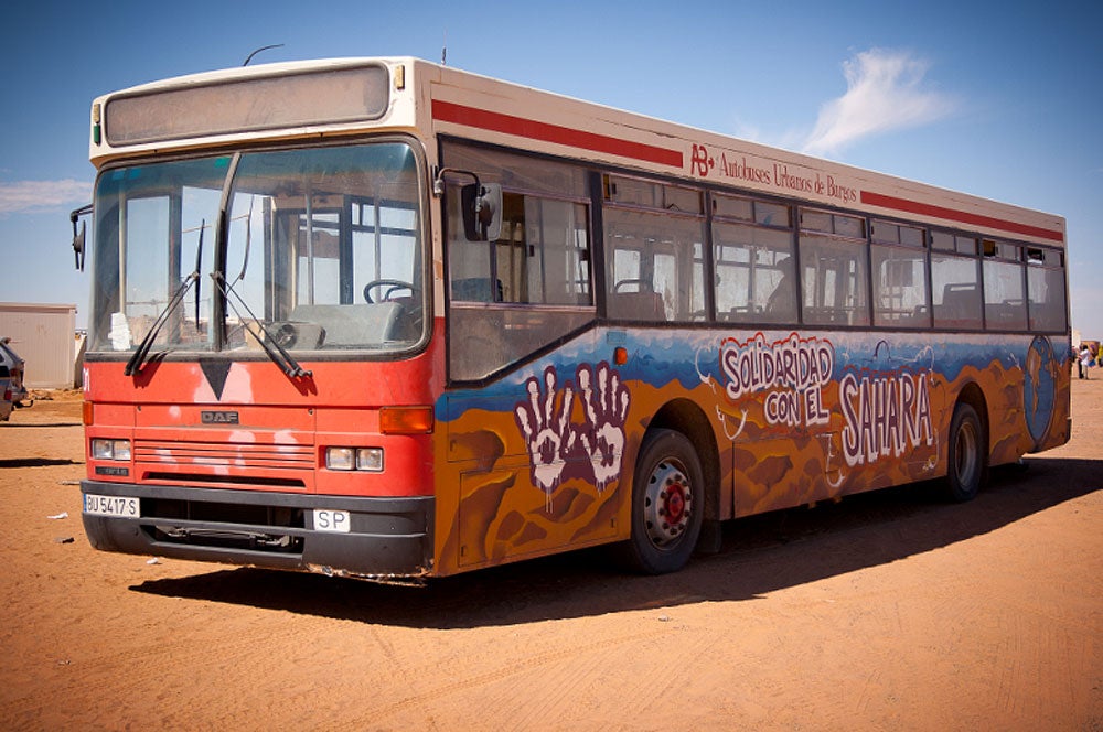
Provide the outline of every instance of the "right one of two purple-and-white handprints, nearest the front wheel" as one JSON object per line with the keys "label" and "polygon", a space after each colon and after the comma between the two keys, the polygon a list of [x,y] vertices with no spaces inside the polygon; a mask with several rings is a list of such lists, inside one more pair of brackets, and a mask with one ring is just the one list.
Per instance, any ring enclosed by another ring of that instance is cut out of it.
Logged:
{"label": "right one of two purple-and-white handprints, nearest the front wheel", "polygon": [[628,387],[621,384],[620,374],[610,369],[606,362],[598,364],[596,387],[587,364],[578,367],[576,378],[589,428],[577,428],[579,443],[593,467],[595,485],[601,492],[620,475],[624,422],[628,419]]}

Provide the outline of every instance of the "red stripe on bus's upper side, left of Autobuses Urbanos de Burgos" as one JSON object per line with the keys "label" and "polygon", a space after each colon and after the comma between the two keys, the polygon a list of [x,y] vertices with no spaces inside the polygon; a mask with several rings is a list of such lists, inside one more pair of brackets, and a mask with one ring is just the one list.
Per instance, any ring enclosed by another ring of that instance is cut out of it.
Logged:
{"label": "red stripe on bus's upper side, left of Autobuses Urbanos de Burgos", "polygon": [[660,165],[671,168],[682,168],[684,163],[683,154],[677,150],[668,148],[657,148],[642,142],[631,142],[595,132],[583,132],[572,130],[558,125],[538,122],[534,119],[503,115],[485,109],[475,109],[453,101],[432,100],[432,118],[442,122],[454,122],[467,127],[478,127],[506,134],[528,138],[531,140],[542,140],[544,142],[555,142],[572,148],[582,148],[595,152],[607,152],[621,158],[632,158],[643,160]]}

